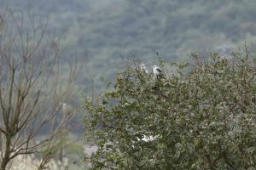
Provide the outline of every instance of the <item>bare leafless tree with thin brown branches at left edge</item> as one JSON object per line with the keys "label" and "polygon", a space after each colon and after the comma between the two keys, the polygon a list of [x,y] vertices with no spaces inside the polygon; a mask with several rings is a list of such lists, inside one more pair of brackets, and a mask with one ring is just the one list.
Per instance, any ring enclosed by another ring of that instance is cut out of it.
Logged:
{"label": "bare leafless tree with thin brown branches at left edge", "polygon": [[[73,126],[73,114],[56,119],[81,65],[70,66],[62,77],[58,40],[48,36],[47,22],[11,11],[0,19],[0,169],[16,156],[40,150],[39,169],[44,169],[61,148],[61,134]],[[42,131],[49,133],[38,138]]]}

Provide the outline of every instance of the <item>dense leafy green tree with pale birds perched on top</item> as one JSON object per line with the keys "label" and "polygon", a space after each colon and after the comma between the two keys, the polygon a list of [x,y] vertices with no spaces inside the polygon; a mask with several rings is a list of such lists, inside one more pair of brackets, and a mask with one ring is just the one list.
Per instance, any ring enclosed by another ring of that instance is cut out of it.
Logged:
{"label": "dense leafy green tree with pale birds perched on top", "polygon": [[256,65],[248,54],[176,65],[166,79],[126,69],[86,126],[92,169],[254,169]]}

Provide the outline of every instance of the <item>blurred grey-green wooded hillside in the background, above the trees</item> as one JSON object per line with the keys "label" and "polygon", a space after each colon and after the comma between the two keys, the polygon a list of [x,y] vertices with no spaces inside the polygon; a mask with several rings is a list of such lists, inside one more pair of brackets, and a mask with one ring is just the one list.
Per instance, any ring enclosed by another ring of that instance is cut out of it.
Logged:
{"label": "blurred grey-green wooded hillside in the background, above the trees", "polygon": [[79,81],[84,91],[92,79],[96,89],[103,87],[99,77],[113,80],[120,56],[152,65],[156,51],[166,61],[184,60],[244,41],[252,47],[256,36],[253,0],[2,0],[0,6],[49,18],[50,31],[61,37],[63,65],[88,54]]}

